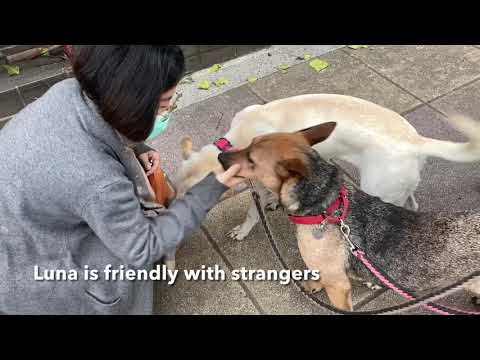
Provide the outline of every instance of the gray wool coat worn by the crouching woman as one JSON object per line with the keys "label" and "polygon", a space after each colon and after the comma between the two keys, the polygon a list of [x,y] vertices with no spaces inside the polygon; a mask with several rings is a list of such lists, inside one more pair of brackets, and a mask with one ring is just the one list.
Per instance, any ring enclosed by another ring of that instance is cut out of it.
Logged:
{"label": "gray wool coat worn by the crouching woman", "polygon": [[[152,313],[152,281],[107,281],[103,270],[151,269],[227,188],[210,174],[148,217],[125,166],[129,150],[75,79],[0,131],[0,313]],[[36,266],[37,275],[73,270],[78,279],[35,280]],[[85,280],[86,266],[98,280]]]}

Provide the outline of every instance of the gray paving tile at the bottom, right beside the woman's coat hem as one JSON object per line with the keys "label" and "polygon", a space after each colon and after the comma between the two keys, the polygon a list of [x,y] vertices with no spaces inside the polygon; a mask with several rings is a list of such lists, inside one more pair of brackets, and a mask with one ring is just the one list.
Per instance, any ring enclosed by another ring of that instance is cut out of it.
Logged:
{"label": "gray paving tile at the bottom, right beside the woman's coat hem", "polygon": [[[226,281],[187,281],[183,270],[219,265]],[[255,315],[258,312],[242,287],[232,280],[227,266],[203,233],[198,232],[177,254],[180,275],[174,286],[155,283],[154,313],[161,315]]]}

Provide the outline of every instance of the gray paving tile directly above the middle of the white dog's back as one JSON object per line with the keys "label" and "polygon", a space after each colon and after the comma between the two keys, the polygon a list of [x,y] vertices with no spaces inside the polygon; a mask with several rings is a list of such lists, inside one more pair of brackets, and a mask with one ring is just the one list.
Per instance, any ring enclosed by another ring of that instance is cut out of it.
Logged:
{"label": "gray paving tile directly above the middle of the white dog's back", "polygon": [[249,86],[266,101],[303,94],[335,93],[363,98],[400,113],[419,104],[342,50],[320,58],[328,61],[330,67],[319,73],[308,63],[302,63],[289,69],[287,74],[275,73]]}

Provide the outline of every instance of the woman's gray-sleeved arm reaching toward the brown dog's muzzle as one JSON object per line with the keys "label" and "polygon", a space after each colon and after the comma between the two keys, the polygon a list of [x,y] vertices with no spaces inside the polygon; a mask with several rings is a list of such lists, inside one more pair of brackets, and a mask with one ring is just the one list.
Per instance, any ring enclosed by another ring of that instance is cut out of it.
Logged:
{"label": "woman's gray-sleeved arm reaching toward the brown dog's muzzle", "polygon": [[137,269],[148,268],[191,235],[227,189],[212,173],[158,217],[147,218],[133,184],[125,178],[97,193],[82,214],[122,261]]}

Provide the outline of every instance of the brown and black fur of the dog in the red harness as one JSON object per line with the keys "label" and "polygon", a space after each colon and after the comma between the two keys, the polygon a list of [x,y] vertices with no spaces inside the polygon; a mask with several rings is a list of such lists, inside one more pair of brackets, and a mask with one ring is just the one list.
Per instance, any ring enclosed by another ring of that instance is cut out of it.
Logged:
{"label": "brown and black fur of the dog in the red harness", "polygon": [[[292,215],[322,214],[345,182],[310,146],[326,141],[334,128],[326,123],[258,137],[243,150],[220,154],[219,161],[225,169],[240,164],[238,176],[260,181]],[[347,187],[345,223],[352,240],[397,284],[423,295],[480,269],[480,212],[419,213]],[[319,281],[305,284],[306,290],[324,288],[333,305],[352,310],[349,273],[365,280],[371,276],[350,254],[340,227],[297,225],[297,237],[305,264],[321,274]],[[472,282],[468,289],[480,293],[478,285]]]}

